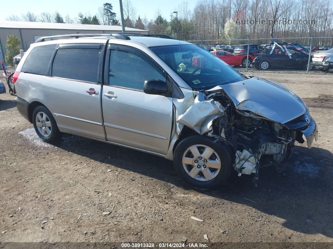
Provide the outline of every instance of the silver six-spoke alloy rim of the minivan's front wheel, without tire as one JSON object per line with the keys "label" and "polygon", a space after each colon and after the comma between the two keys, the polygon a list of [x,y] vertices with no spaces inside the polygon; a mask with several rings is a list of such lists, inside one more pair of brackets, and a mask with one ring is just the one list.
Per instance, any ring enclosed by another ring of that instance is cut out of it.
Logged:
{"label": "silver six-spoke alloy rim of the minivan's front wheel, without tire", "polygon": [[221,169],[221,160],[210,147],[197,144],[189,147],[182,156],[185,172],[198,181],[215,178]]}

